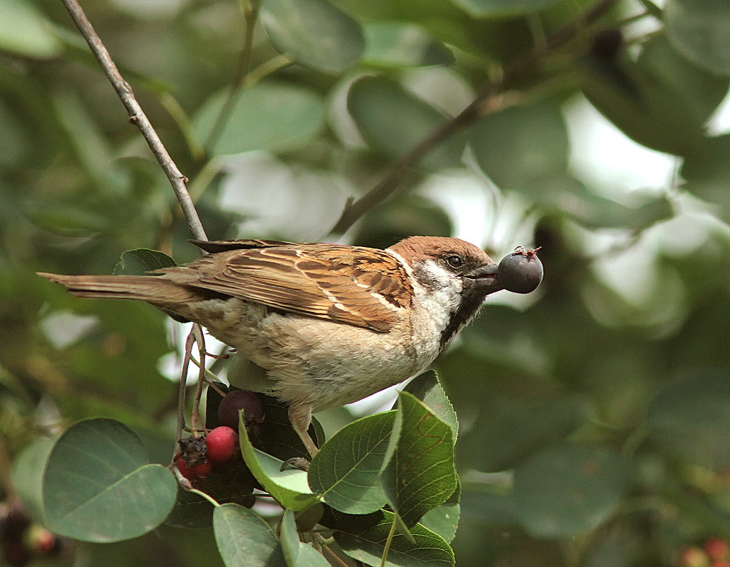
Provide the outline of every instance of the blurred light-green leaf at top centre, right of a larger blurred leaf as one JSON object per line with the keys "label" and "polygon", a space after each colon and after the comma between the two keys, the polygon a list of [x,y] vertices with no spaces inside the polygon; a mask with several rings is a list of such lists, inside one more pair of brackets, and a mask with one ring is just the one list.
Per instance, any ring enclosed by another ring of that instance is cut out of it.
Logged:
{"label": "blurred light-green leaf at top centre, right of a larger blurred leaf", "polygon": [[371,22],[365,26],[365,63],[383,67],[451,65],[453,53],[415,23]]}

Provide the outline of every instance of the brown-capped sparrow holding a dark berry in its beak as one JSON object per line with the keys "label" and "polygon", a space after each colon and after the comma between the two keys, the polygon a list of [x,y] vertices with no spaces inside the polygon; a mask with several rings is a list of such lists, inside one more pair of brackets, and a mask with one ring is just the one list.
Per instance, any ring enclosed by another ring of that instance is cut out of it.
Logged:
{"label": "brown-capped sparrow holding a dark berry in its beak", "polygon": [[504,287],[488,254],[458,238],[414,236],[385,250],[192,242],[209,254],[150,275],[39,275],[78,297],[146,301],[206,327],[266,371],[312,456],[313,413],[426,370]]}

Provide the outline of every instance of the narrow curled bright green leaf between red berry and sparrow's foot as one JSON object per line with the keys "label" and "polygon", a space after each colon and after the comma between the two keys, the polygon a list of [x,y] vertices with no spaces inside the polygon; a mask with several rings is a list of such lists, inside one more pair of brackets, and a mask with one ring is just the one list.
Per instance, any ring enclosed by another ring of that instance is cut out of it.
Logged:
{"label": "narrow curled bright green leaf between red berry and sparrow's foot", "polygon": [[282,460],[253,448],[244,423],[239,425],[239,441],[243,458],[253,476],[282,506],[299,511],[319,500],[307,484],[307,473],[291,467],[282,471]]}

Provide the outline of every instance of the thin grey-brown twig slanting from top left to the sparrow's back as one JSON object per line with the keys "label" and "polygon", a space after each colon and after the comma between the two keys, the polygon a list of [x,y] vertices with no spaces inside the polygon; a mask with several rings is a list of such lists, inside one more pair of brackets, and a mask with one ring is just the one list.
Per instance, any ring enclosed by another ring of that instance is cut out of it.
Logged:
{"label": "thin grey-brown twig slanting from top left to the sparrow's back", "polygon": [[167,178],[170,180],[172,189],[175,192],[175,197],[177,197],[177,201],[180,202],[180,208],[183,209],[183,214],[185,214],[185,218],[188,221],[188,227],[190,227],[190,232],[193,237],[196,238],[196,240],[208,240],[205,235],[203,225],[198,218],[198,213],[195,210],[195,205],[193,205],[193,199],[191,199],[188,189],[185,187],[185,183],[187,183],[188,178],[186,178],[185,175],[177,169],[177,165],[175,165],[174,161],[172,161],[170,154],[167,153],[160,137],[157,135],[157,132],[155,132],[152,124],[147,119],[147,115],[145,115],[142,107],[139,106],[137,99],[134,98],[131,86],[120,74],[119,69],[117,69],[114,61],[112,61],[112,57],[107,51],[107,48],[104,47],[104,44],[96,34],[96,31],[94,31],[93,26],[91,26],[91,22],[89,22],[77,0],[61,1],[69,11],[71,18],[74,20],[74,23],[76,23],[76,26],[79,28],[84,39],[86,39],[89,47],[91,47],[91,53],[93,53],[94,57],[96,57],[96,61],[99,61],[101,68],[104,69],[104,73],[107,75],[110,83],[112,83],[114,90],[117,91],[119,98],[129,113],[129,121],[133,124],[137,124],[140,132],[142,132],[142,136],[145,137],[145,140],[147,141],[147,145],[150,146],[150,150],[152,150],[152,153],[160,164],[160,167],[162,167],[165,175],[167,175]]}

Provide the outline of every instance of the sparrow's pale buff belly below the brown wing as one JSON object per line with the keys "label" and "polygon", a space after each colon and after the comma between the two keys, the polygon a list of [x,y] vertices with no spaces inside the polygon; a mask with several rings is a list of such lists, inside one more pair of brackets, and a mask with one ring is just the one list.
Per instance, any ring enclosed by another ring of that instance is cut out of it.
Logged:
{"label": "sparrow's pale buff belly below the brown wing", "polygon": [[[271,313],[239,300],[226,303],[218,317],[207,321],[209,332],[264,368],[269,392],[290,403],[310,404],[315,412],[415,376],[439,352],[435,337],[406,343],[389,333]],[[410,336],[410,329],[397,331]]]}

